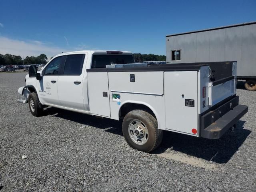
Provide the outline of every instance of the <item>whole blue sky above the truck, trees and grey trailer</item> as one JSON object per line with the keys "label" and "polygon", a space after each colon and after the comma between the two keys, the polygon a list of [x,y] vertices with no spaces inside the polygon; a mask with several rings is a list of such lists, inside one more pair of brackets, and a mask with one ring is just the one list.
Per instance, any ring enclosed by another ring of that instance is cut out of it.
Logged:
{"label": "whole blue sky above the truck, trees and grey trailer", "polygon": [[0,0],[0,53],[164,54],[167,34],[256,20],[255,0]]}

